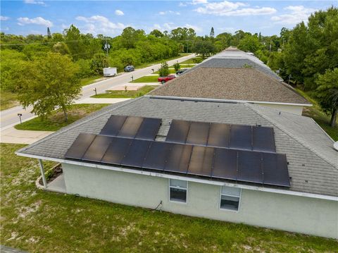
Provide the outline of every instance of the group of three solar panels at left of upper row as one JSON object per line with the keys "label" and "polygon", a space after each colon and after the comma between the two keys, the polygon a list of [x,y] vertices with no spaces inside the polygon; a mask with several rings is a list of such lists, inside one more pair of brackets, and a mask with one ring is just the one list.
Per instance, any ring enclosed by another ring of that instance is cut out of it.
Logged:
{"label": "group of three solar panels at left of upper row", "polygon": [[155,140],[161,125],[160,118],[115,116],[108,118],[100,135],[125,137],[142,140]]}

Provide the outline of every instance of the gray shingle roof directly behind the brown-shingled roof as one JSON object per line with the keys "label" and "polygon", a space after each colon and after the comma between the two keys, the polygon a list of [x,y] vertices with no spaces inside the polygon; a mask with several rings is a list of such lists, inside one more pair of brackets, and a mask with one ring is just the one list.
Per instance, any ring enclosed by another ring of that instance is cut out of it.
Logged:
{"label": "gray shingle roof directly behind the brown-shingled roof", "polygon": [[268,68],[263,64],[256,63],[249,58],[208,58],[206,61],[199,63],[198,65],[190,68],[185,71],[182,75],[186,75],[187,73],[201,67],[206,68],[243,68],[243,66],[251,66],[252,68],[256,68],[257,70],[269,75],[271,78],[275,78],[276,80],[282,81],[282,78],[277,75],[273,70]]}

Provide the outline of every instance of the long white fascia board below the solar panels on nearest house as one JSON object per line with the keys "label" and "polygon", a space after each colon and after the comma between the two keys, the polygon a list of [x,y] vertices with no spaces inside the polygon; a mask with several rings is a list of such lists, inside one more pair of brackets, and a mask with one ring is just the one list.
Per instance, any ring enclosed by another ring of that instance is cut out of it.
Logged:
{"label": "long white fascia board below the solar panels on nearest house", "polygon": [[299,196],[299,197],[312,197],[312,198],[315,198],[315,199],[326,199],[326,200],[333,200],[333,201],[338,202],[338,197],[328,196],[328,195],[317,195],[317,194],[307,193],[307,192],[294,192],[294,191],[290,191],[290,190],[265,188],[265,187],[252,186],[252,185],[241,185],[241,184],[237,184],[237,183],[226,183],[226,182],[199,179],[199,178],[189,178],[189,177],[184,177],[184,176],[180,176],[180,175],[169,175],[169,174],[156,173],[156,172],[151,172],[151,171],[139,171],[139,170],[134,170],[132,168],[106,166],[106,165],[96,164],[96,163],[84,163],[82,161],[57,159],[57,158],[37,156],[37,155],[32,155],[32,154],[23,154],[23,153],[18,153],[18,152],[15,152],[15,154],[17,154],[18,156],[25,156],[25,157],[34,158],[34,159],[42,159],[42,160],[46,160],[46,161],[56,161],[58,163],[68,163],[68,164],[74,164],[74,165],[77,165],[77,166],[85,166],[85,167],[91,167],[91,168],[101,168],[101,169],[106,169],[106,170],[110,170],[110,171],[120,171],[120,172],[134,173],[134,174],[139,174],[139,175],[150,175],[150,176],[154,176],[154,177],[158,177],[158,178],[171,178],[171,179],[178,179],[178,180],[186,180],[186,181],[189,181],[189,182],[204,183],[204,184],[207,184],[207,185],[219,185],[219,186],[224,185],[224,186],[237,187],[237,188],[246,189],[246,190],[256,190],[256,191],[261,191],[261,192],[273,192],[273,193],[277,193],[277,194],[293,195],[293,196]]}

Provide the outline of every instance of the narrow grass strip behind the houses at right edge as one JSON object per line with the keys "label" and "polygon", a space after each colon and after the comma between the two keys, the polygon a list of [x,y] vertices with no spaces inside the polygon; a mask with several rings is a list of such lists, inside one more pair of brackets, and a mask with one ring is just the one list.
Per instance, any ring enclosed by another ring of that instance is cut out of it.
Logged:
{"label": "narrow grass strip behind the houses at right edge", "polygon": [[322,111],[318,102],[312,97],[310,97],[308,93],[303,92],[303,90],[300,90],[300,89],[296,89],[296,90],[297,92],[299,92],[299,94],[301,94],[303,97],[308,99],[308,101],[310,101],[311,104],[313,104],[312,107],[304,106],[303,116],[308,116],[308,117],[313,118],[315,122],[317,122],[318,125],[320,125],[320,127],[323,128],[323,130],[325,130],[325,132],[327,132],[327,134],[330,135],[330,137],[332,137],[334,141],[338,141],[338,123],[336,123],[336,126],[332,128],[330,126],[330,116],[327,116]]}

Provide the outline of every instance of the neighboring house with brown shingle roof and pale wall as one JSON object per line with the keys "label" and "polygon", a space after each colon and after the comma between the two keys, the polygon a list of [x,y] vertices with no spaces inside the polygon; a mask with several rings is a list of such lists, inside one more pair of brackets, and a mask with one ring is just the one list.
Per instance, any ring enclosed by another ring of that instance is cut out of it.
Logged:
{"label": "neighboring house with brown shingle roof and pale wall", "polygon": [[243,101],[297,115],[301,115],[303,106],[311,106],[291,86],[256,68],[208,68],[204,63],[158,87],[149,95]]}

